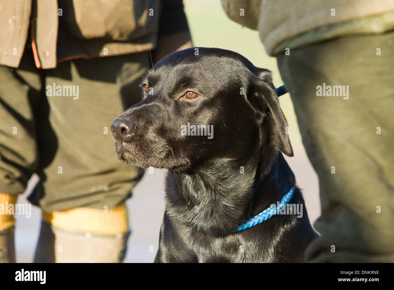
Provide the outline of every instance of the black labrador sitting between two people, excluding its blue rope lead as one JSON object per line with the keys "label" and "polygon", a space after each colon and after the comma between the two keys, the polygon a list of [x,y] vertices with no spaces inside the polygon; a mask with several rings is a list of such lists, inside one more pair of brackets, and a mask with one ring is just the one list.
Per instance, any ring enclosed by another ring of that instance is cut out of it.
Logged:
{"label": "black labrador sitting between two people, excluding its blue rope lead", "polygon": [[[169,170],[155,262],[303,262],[317,234],[281,153],[293,150],[271,72],[236,52],[190,48],[141,87],[111,131],[121,161]],[[276,215],[235,231],[272,204]]]}

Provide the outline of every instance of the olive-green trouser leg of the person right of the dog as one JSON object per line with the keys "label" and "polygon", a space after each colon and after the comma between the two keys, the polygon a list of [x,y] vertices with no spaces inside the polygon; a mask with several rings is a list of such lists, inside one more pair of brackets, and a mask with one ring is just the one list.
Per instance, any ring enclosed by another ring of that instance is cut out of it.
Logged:
{"label": "olive-green trouser leg of the person right of the dog", "polygon": [[[394,262],[393,48],[389,32],[277,56],[320,182],[321,236],[307,262]],[[345,86],[348,99],[318,96],[317,86]]]}

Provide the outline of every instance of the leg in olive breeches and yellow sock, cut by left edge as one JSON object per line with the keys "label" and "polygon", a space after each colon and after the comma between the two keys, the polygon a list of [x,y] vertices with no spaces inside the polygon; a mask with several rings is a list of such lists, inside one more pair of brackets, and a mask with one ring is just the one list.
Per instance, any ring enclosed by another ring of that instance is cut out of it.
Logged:
{"label": "leg in olive breeches and yellow sock, cut by left edge", "polygon": [[19,68],[0,65],[0,262],[15,262],[15,206],[10,205],[37,168],[34,108],[41,82],[31,47],[26,46]]}

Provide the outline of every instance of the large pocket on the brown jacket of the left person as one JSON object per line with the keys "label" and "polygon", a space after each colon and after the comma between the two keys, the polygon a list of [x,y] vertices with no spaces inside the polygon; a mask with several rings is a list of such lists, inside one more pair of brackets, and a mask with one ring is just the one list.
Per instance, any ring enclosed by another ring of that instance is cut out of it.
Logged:
{"label": "large pocket on the brown jacket of the left person", "polygon": [[58,3],[63,10],[59,25],[80,39],[130,41],[158,31],[158,0],[59,0]]}

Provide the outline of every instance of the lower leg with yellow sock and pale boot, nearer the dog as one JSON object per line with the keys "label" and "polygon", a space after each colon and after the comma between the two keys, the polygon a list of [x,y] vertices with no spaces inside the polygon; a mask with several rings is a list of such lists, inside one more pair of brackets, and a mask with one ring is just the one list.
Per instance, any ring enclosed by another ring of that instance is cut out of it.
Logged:
{"label": "lower leg with yellow sock and pale boot, nearer the dog", "polygon": [[93,208],[44,213],[34,262],[122,262],[128,229],[124,203],[105,213]]}

